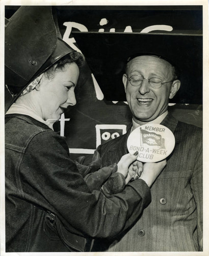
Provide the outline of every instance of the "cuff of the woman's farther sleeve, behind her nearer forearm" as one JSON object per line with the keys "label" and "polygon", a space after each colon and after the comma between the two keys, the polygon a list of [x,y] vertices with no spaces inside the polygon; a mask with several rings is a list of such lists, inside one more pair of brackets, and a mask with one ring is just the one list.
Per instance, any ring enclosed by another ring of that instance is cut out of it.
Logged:
{"label": "cuff of the woman's farther sleeve, behind her nearer forearm", "polygon": [[113,173],[108,181],[101,187],[105,196],[117,194],[125,187],[125,177],[121,173]]}

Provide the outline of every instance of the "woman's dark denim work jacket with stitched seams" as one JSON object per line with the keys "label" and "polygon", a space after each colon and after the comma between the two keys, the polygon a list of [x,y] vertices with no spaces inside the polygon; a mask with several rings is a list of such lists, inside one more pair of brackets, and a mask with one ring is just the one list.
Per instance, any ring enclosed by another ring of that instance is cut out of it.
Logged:
{"label": "woman's dark denim work jacket with stitched seams", "polygon": [[106,197],[88,187],[61,137],[20,114],[6,115],[6,251],[89,251],[114,237],[150,203],[139,179]]}

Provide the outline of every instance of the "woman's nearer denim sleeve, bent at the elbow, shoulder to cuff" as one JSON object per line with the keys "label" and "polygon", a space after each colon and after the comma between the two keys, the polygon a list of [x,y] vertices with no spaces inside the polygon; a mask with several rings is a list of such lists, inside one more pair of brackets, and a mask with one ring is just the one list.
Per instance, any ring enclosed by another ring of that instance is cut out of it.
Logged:
{"label": "woman's nearer denim sleeve, bent at the elbow, shoulder to cuff", "polygon": [[[115,236],[132,225],[151,201],[150,189],[141,179],[109,198],[91,191],[69,158],[65,140],[53,131],[41,132],[30,141],[19,173],[26,200],[51,210],[69,231],[83,236]],[[27,194],[29,186],[33,195]]]}

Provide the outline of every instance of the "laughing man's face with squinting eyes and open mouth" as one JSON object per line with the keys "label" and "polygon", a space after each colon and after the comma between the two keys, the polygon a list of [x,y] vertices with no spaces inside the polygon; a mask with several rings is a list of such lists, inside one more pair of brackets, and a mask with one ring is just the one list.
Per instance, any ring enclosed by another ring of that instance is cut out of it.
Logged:
{"label": "laughing man's face with squinting eyes and open mouth", "polygon": [[[139,56],[129,62],[127,76],[141,75],[144,78],[161,78],[163,82],[173,80],[170,63],[154,56]],[[140,86],[132,86],[123,75],[126,99],[137,123],[149,122],[168,109],[169,98],[173,98],[180,87],[180,81],[165,83],[159,89],[153,89],[148,79]]]}

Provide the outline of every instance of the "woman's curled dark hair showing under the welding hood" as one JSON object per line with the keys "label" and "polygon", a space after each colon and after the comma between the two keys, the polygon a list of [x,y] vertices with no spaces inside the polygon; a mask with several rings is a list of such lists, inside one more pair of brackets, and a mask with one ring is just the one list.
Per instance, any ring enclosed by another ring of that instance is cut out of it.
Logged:
{"label": "woman's curled dark hair showing under the welding hood", "polygon": [[52,67],[44,72],[44,75],[47,79],[53,79],[55,73],[57,71],[62,71],[65,68],[65,65],[75,63],[79,68],[84,65],[84,55],[80,52],[70,52],[69,54],[65,55],[61,59],[59,59]]}

